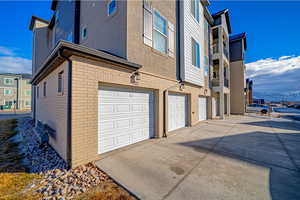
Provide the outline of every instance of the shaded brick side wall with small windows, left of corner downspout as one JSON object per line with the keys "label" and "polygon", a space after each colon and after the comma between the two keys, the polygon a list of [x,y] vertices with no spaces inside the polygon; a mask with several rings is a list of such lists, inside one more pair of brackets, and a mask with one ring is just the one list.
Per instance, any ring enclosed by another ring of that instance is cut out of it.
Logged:
{"label": "shaded brick side wall with small windows, left of corner downspout", "polygon": [[[58,73],[64,71],[64,93],[58,94]],[[50,137],[51,146],[59,155],[67,160],[67,95],[68,95],[68,64],[65,61],[37,86],[39,86],[39,97],[36,104],[36,119],[48,124],[56,130],[56,139]],[[47,82],[47,94],[43,96],[43,84]]]}

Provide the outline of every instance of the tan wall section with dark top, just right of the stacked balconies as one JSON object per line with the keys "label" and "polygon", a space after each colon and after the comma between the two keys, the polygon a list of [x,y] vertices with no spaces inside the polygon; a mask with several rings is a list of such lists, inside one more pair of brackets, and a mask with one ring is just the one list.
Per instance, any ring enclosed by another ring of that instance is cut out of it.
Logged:
{"label": "tan wall section with dark top, just right of the stacked balconies", "polygon": [[246,65],[244,62],[247,50],[246,34],[230,36],[230,109],[231,114],[243,115],[246,111]]}

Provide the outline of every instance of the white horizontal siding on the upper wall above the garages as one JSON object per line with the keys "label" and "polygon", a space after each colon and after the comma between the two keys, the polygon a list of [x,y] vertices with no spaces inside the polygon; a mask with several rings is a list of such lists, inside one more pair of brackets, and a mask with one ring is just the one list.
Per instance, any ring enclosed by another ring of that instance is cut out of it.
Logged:
{"label": "white horizontal siding on the upper wall above the garages", "polygon": [[[181,4],[183,15],[183,49],[184,61],[181,69],[183,70],[183,80],[199,86],[204,86],[204,56],[205,42],[204,41],[204,13],[203,7],[200,5],[200,20],[199,23],[192,16],[191,1],[183,1]],[[181,35],[182,36],[182,35]],[[200,69],[192,66],[192,38],[200,45]]]}

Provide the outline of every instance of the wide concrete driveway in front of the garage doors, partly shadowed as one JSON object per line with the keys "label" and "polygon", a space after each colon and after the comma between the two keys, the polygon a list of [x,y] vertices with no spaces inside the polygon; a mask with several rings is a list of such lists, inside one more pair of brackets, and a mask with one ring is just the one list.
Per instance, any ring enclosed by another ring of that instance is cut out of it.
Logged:
{"label": "wide concrete driveway in front of the garage doors, partly shadowed", "polygon": [[300,199],[300,123],[233,116],[104,155],[140,199]]}

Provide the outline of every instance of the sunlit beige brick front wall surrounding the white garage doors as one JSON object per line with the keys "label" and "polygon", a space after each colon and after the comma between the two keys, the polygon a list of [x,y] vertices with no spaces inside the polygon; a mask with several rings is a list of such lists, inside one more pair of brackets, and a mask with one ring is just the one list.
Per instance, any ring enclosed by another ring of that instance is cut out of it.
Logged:
{"label": "sunlit beige brick front wall surrounding the white garage doors", "polygon": [[[156,94],[156,136],[163,134],[163,91],[176,85],[174,79],[141,73],[138,83],[131,82],[131,69],[111,63],[72,57],[72,167],[100,158],[98,150],[98,89],[101,85],[139,87]],[[183,91],[176,86],[173,92],[190,97],[190,125],[198,122],[198,96],[210,95],[208,89],[185,85]]]}

